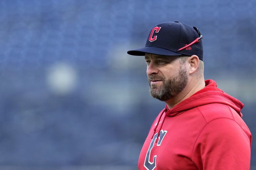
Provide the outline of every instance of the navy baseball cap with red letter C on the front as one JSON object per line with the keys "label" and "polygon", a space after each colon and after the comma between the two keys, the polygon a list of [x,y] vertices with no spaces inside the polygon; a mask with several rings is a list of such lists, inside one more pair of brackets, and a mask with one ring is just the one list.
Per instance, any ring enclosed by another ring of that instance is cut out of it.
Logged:
{"label": "navy baseball cap with red letter C on the front", "polygon": [[193,26],[179,21],[155,25],[148,35],[145,47],[127,51],[130,55],[143,56],[145,53],[156,55],[197,55],[203,61],[203,36]]}

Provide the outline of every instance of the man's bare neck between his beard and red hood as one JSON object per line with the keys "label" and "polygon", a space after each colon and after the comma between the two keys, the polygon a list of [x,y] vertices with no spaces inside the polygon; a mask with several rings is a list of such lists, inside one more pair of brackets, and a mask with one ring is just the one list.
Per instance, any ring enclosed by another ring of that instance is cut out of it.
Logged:
{"label": "man's bare neck between his beard and red hood", "polygon": [[198,92],[199,90],[203,89],[205,87],[204,79],[202,79],[200,82],[188,82],[187,86],[175,97],[165,101],[168,108],[171,109],[174,106],[178,105],[183,100],[189,98],[194,93]]}

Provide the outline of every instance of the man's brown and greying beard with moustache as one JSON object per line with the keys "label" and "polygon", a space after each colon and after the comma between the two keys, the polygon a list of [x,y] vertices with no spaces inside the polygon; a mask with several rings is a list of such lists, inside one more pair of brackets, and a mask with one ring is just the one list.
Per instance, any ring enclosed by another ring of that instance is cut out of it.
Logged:
{"label": "man's brown and greying beard with moustache", "polygon": [[[151,85],[151,81],[149,79],[161,80],[162,85],[157,88],[157,85]],[[148,82],[150,87],[150,95],[158,100],[167,101],[178,95],[188,84],[187,70],[180,67],[179,74],[169,79],[157,75],[149,75]]]}

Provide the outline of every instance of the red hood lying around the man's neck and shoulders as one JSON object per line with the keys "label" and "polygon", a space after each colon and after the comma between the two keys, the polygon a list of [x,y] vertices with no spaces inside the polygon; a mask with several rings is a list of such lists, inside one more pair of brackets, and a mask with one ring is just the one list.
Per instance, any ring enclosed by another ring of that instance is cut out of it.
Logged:
{"label": "red hood lying around the man's neck and shoulders", "polygon": [[177,116],[186,110],[211,103],[228,105],[242,117],[240,111],[244,105],[238,99],[217,88],[216,82],[213,80],[205,80],[205,87],[203,89],[199,90],[189,98],[183,100],[173,108],[168,109],[166,105],[167,116]]}

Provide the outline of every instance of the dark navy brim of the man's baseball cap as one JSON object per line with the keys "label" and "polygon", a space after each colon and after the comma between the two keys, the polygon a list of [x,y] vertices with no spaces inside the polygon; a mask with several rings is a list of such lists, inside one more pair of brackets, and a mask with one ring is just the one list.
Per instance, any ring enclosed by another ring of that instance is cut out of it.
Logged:
{"label": "dark navy brim of the man's baseball cap", "polygon": [[182,55],[180,53],[175,53],[170,50],[166,50],[159,47],[151,47],[151,46],[130,50],[130,51],[127,51],[127,53],[129,55],[138,55],[138,56],[144,56],[145,53],[155,54],[155,55],[169,55],[169,56]]}

